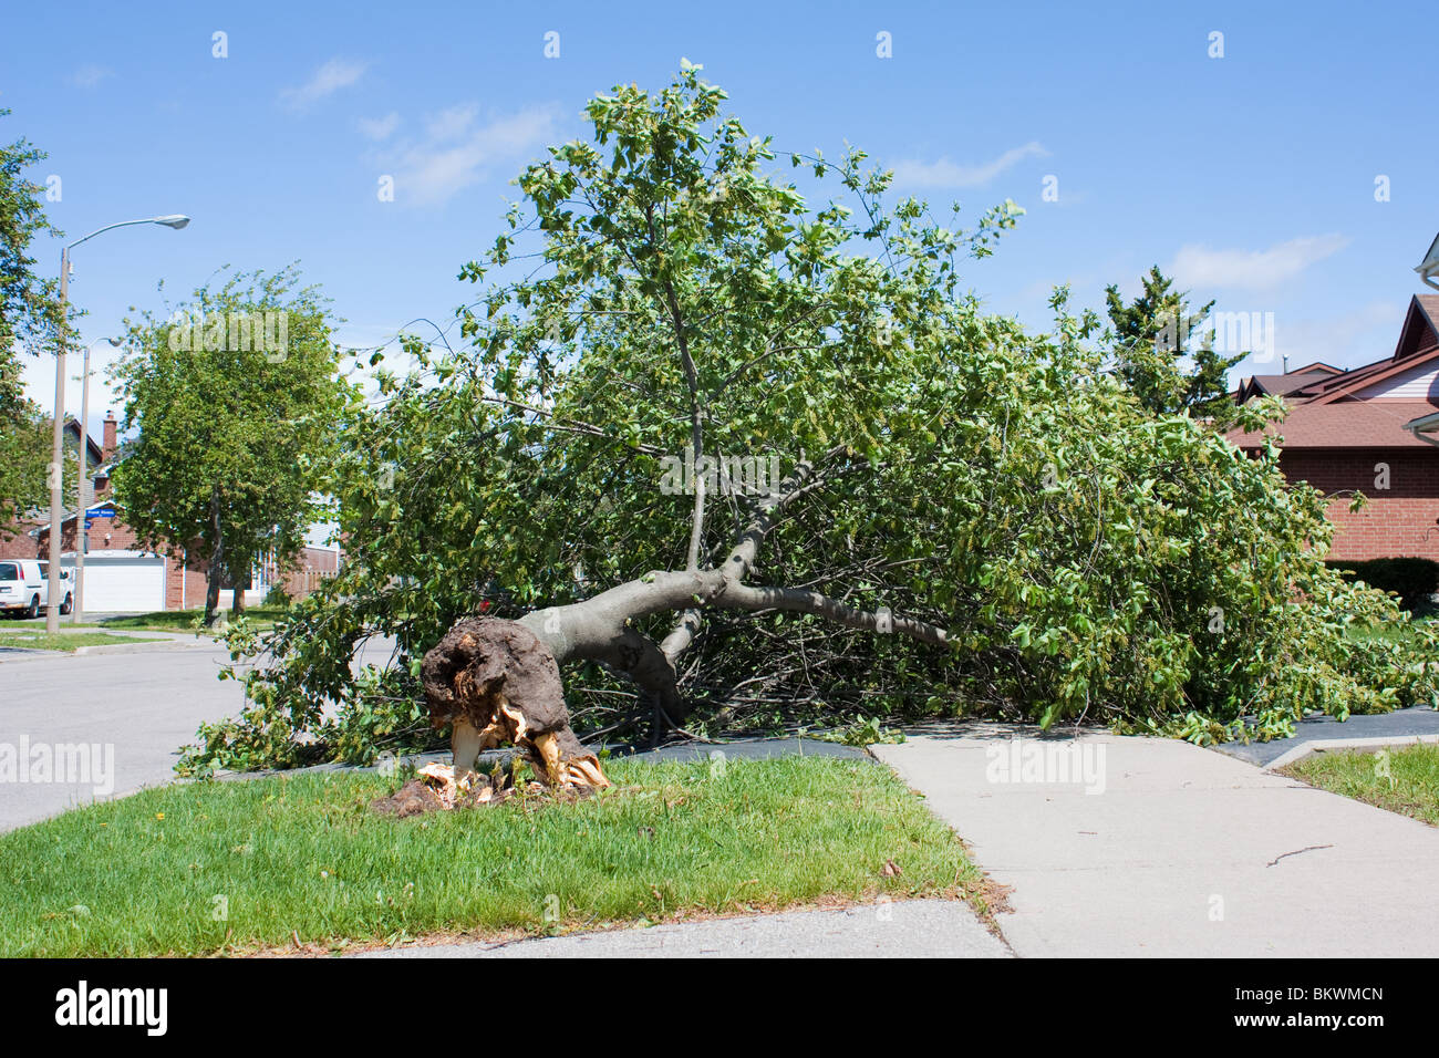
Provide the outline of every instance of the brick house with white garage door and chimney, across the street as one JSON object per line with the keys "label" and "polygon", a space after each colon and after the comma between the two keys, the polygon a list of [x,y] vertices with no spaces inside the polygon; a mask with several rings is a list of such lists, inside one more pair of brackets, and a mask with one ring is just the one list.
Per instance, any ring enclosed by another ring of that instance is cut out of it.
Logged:
{"label": "brick house with white garage door and chimney, across the street", "polygon": [[[72,423],[73,425],[73,423]],[[78,435],[79,426],[73,425]],[[85,551],[85,610],[105,612],[153,612],[189,610],[204,606],[207,564],[199,548],[191,554],[180,548],[178,556],[157,554],[145,550],[134,530],[125,524],[124,510],[111,497],[109,474],[115,462],[117,422],[105,416],[104,442],[95,445],[96,459],[92,466],[94,501],[86,507],[89,525],[88,548]],[[73,453],[71,458],[75,458]],[[60,548],[63,567],[73,567],[78,537],[76,511],[71,511],[60,523]],[[47,559],[50,548],[49,512],[37,511],[22,524],[12,527],[9,541],[0,541],[0,557]],[[13,554],[12,554],[13,553]],[[252,571],[250,587],[245,593],[246,605],[265,599],[269,589],[279,583],[291,597],[312,592],[319,580],[334,576],[340,569],[340,550],[335,547],[305,547],[294,567],[279,567],[273,560],[260,561]],[[226,586],[220,592],[220,606],[229,607],[233,592]]]}

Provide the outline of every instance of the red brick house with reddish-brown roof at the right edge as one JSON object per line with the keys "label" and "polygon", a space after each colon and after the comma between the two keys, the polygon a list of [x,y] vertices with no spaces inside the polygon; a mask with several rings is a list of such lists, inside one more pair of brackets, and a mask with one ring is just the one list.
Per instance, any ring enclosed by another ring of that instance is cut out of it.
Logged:
{"label": "red brick house with reddish-brown roof at the right edge", "polygon": [[[1439,560],[1439,295],[1409,302],[1393,356],[1347,371],[1307,364],[1245,379],[1235,399],[1281,396],[1279,468],[1330,497],[1334,559]],[[1258,451],[1258,433],[1229,439]],[[1350,511],[1354,492],[1368,499]]]}

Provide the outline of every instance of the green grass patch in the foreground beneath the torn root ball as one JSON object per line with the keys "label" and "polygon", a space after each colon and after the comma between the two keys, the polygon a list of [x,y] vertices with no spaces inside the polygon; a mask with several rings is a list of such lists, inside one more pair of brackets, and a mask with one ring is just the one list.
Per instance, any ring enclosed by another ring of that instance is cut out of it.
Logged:
{"label": "green grass patch in the foreground beneath the torn root ball", "polygon": [[177,785],[0,835],[0,954],[227,954],[504,937],[917,895],[986,911],[960,839],[862,760],[609,761],[561,803],[409,819],[400,777]]}

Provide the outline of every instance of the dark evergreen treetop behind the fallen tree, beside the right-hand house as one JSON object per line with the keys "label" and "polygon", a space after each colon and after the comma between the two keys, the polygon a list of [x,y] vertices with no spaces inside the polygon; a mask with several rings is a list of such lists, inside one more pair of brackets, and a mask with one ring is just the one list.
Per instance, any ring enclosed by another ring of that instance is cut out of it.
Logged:
{"label": "dark evergreen treetop behind the fallen tree, beside the right-hand house", "polygon": [[1105,288],[1115,373],[1154,415],[1187,413],[1227,423],[1233,404],[1229,369],[1248,353],[1220,356],[1200,331],[1213,301],[1190,312],[1187,297],[1173,289],[1173,279],[1157,265],[1143,282],[1144,292],[1128,305],[1118,286]]}

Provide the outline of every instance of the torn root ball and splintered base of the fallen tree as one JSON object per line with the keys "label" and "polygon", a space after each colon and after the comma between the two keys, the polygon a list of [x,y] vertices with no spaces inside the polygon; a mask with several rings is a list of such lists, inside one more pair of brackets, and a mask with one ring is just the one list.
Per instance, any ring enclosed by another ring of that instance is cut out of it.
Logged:
{"label": "torn root ball and splintered base of the fallen tree", "polygon": [[465,618],[420,665],[436,727],[453,724],[456,782],[482,750],[514,743],[551,786],[600,787],[610,780],[570,730],[554,655],[514,620]]}

